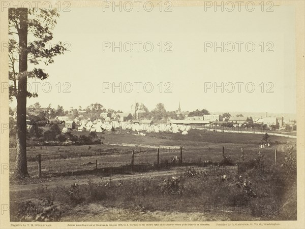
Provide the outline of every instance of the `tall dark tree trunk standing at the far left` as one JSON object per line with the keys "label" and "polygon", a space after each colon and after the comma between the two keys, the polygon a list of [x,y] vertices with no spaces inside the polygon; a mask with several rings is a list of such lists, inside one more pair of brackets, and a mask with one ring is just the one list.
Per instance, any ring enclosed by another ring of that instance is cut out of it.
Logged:
{"label": "tall dark tree trunk standing at the far left", "polygon": [[[27,8],[19,8],[19,74],[27,71]],[[26,83],[27,75],[18,80],[17,99],[17,156],[14,176],[29,177],[26,162]]]}

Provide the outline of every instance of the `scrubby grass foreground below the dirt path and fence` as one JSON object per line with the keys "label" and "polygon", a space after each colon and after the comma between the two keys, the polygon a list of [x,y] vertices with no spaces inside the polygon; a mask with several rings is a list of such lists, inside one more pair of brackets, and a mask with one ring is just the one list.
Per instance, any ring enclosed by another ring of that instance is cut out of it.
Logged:
{"label": "scrubby grass foreground below the dirt path and fence", "polygon": [[[10,199],[20,194],[11,192]],[[296,220],[296,161],[275,165],[257,157],[241,162],[238,171],[189,167],[182,176],[88,180],[22,195],[26,201],[11,202],[11,221],[79,221],[84,214],[80,209],[95,221],[107,221],[109,208],[116,209],[113,221],[159,221],[168,213],[176,215],[173,221],[180,220],[179,213],[201,213],[206,221]]]}

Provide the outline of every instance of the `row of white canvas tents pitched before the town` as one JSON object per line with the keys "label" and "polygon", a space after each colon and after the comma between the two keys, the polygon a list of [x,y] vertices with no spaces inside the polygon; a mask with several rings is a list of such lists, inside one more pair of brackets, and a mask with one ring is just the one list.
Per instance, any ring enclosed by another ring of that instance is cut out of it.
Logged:
{"label": "row of white canvas tents pitched before the town", "polygon": [[179,124],[139,124],[130,122],[101,122],[98,121],[96,123],[89,121],[85,125],[81,124],[78,127],[78,131],[90,131],[90,132],[103,132],[104,130],[110,131],[112,128],[124,129],[124,130],[133,130],[133,131],[146,131],[146,133],[159,133],[159,132],[171,132],[171,133],[180,133],[186,135],[188,131],[191,129],[191,126],[188,125],[179,125]]}

